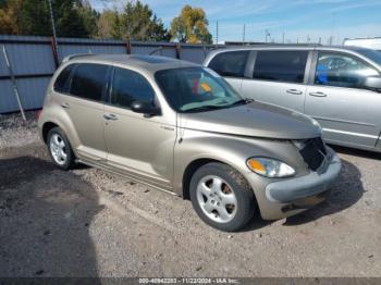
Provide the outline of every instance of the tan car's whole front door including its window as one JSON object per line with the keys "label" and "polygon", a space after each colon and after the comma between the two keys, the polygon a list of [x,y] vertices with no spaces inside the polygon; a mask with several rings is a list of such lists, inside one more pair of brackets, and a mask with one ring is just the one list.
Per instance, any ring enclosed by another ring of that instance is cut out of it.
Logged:
{"label": "tan car's whole front door including its window", "polygon": [[150,83],[139,73],[115,67],[110,102],[105,106],[108,164],[159,187],[171,187],[175,117],[145,116],[133,101],[158,104]]}

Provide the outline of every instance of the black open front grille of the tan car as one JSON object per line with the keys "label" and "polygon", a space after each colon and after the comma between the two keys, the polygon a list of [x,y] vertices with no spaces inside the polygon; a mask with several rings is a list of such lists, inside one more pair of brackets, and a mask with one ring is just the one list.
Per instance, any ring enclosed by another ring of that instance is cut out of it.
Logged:
{"label": "black open front grille of the tan car", "polygon": [[327,156],[324,142],[320,137],[304,140],[299,152],[312,171],[317,171],[320,168]]}

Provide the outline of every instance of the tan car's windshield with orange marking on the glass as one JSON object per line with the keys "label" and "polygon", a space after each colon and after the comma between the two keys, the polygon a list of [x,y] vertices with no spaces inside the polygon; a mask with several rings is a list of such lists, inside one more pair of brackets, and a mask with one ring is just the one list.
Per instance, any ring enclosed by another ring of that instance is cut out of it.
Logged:
{"label": "tan car's windshield with orange marking on the glass", "polygon": [[208,69],[162,70],[155,77],[177,112],[202,112],[246,102],[225,79]]}

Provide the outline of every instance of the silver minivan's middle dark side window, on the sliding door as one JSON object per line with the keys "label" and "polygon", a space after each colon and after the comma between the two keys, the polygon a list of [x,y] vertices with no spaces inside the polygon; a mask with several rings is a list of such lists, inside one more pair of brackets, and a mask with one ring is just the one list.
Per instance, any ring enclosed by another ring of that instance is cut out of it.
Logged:
{"label": "silver minivan's middle dark side window, on the sliding door", "polygon": [[308,51],[258,51],[253,77],[303,83]]}

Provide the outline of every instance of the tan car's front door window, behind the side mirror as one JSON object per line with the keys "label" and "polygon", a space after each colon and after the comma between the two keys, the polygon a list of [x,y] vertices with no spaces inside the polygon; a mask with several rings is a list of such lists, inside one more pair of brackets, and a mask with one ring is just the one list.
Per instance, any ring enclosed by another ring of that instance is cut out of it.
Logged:
{"label": "tan car's front door window, behind the side mirror", "polygon": [[111,103],[130,108],[135,100],[152,102],[155,91],[143,75],[124,70],[115,69],[112,79]]}

